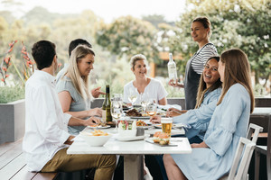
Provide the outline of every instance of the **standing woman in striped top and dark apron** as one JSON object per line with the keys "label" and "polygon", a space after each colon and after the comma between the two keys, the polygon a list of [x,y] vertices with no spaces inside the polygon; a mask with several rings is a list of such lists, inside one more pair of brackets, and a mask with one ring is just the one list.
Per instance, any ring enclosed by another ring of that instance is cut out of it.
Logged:
{"label": "standing woman in striped top and dark apron", "polygon": [[195,108],[199,81],[207,59],[218,54],[209,40],[210,34],[211,24],[207,17],[198,17],[192,21],[191,36],[192,40],[198,43],[199,49],[186,64],[184,85],[173,80],[169,82],[169,85],[184,88],[186,110]]}

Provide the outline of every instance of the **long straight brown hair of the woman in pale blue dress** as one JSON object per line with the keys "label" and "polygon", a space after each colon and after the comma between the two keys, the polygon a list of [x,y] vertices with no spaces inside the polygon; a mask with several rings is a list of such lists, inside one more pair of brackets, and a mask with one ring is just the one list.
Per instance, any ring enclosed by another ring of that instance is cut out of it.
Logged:
{"label": "long straight brown hair of the woman in pale blue dress", "polygon": [[247,55],[240,49],[229,49],[222,52],[220,61],[225,64],[225,71],[222,93],[217,104],[219,105],[223,101],[223,98],[231,85],[239,83],[243,85],[248,91],[251,101],[250,112],[252,113],[254,110],[255,102]]}

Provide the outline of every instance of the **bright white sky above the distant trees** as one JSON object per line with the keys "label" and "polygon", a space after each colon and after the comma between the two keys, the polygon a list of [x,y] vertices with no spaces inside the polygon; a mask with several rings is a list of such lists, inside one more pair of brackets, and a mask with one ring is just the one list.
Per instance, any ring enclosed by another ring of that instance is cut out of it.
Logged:
{"label": "bright white sky above the distant trees", "polygon": [[[4,1],[6,0],[0,0],[0,10],[7,8],[11,10],[10,6],[2,4]],[[137,18],[148,14],[162,14],[165,20],[176,21],[184,11],[185,4],[185,0],[15,0],[15,2],[23,4],[19,9],[24,12],[38,5],[59,14],[79,14],[89,9],[103,18],[106,23],[128,14]],[[18,12],[16,10],[18,9],[13,9]]]}

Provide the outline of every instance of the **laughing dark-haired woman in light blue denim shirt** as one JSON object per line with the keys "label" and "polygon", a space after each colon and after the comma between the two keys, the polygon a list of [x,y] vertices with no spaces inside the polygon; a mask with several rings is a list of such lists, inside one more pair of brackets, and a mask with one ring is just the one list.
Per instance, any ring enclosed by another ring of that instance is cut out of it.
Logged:
{"label": "laughing dark-haired woman in light blue denim shirt", "polygon": [[[192,129],[186,130],[186,136],[191,143],[200,143],[203,140],[211,115],[219,100],[221,94],[221,81],[218,72],[219,61],[220,57],[210,57],[207,60],[201,74],[195,109],[179,111],[170,108],[168,111],[169,116],[175,116],[173,117],[173,123],[181,122],[192,126]],[[160,122],[161,118],[155,116],[151,121]]]}

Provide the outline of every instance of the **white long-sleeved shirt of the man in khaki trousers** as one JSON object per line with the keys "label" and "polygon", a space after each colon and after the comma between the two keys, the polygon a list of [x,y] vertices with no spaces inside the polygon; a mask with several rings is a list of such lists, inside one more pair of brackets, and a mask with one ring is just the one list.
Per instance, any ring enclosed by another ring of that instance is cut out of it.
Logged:
{"label": "white long-sleeved shirt of the man in khaki trousers", "polygon": [[40,171],[70,137],[71,115],[63,113],[55,90],[55,77],[35,70],[25,85],[23,152],[29,171]]}

